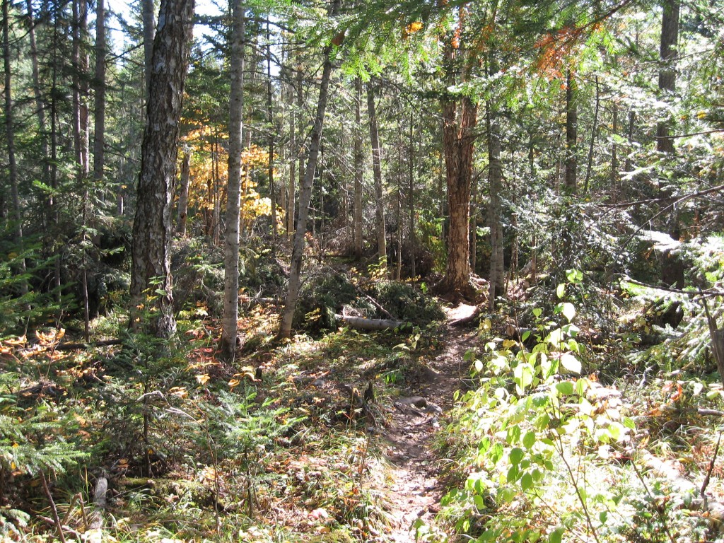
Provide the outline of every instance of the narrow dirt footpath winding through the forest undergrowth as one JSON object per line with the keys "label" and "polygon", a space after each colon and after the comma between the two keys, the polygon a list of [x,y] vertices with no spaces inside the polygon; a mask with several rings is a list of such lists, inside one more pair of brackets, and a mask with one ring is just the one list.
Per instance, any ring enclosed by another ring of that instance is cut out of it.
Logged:
{"label": "narrow dirt footpath winding through the forest undergrowth", "polygon": [[385,454],[392,465],[390,513],[395,519],[385,542],[414,541],[413,522],[423,518],[430,523],[439,511],[443,489],[437,480],[439,466],[432,450],[434,434],[445,424],[455,390],[460,390],[461,380],[468,377],[468,363],[463,356],[474,342],[474,330],[448,327],[442,353],[424,361],[427,367],[419,382],[407,391],[408,396],[395,403],[392,420],[384,432],[389,444]]}

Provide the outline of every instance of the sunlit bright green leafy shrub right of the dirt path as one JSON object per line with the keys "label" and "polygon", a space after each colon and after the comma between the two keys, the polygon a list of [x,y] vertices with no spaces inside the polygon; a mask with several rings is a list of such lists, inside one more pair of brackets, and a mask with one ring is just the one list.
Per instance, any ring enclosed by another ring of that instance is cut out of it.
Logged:
{"label": "sunlit bright green leafy shrub right of the dirt path", "polygon": [[[647,483],[637,464],[636,425],[620,392],[584,376],[567,301],[584,276],[566,275],[550,319],[536,309],[536,328],[520,342],[495,338],[480,355],[468,351],[479,387],[460,397],[444,444],[466,479],[440,516],[476,542],[638,541],[631,533],[672,541],[673,500],[662,501],[665,485]],[[422,522],[417,534],[441,540]]]}

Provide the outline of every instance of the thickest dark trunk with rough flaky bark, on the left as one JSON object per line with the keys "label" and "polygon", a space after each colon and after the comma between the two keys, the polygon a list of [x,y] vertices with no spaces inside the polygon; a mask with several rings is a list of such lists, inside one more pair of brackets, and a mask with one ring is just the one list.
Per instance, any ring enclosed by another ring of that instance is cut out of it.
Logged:
{"label": "thickest dark trunk with rough flaky bark, on the left", "polygon": [[[193,30],[194,0],[161,0],[159,26],[153,42],[151,85],[143,134],[138,198],[131,248],[132,326],[140,315],[134,309],[144,302],[144,291],[156,295],[159,316],[155,332],[174,334],[169,245],[176,152],[186,68]],[[160,277],[159,285],[151,285]],[[156,294],[156,290],[163,292]]]}

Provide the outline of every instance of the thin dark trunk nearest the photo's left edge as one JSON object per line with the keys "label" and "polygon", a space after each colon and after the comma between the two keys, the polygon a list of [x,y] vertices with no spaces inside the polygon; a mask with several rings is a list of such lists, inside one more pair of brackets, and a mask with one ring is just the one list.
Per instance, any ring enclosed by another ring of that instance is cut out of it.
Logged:
{"label": "thin dark trunk nearest the photo's left edge", "polygon": [[[12,198],[12,221],[17,237],[17,243],[20,244],[20,252],[22,253],[22,212],[20,211],[20,193],[18,192],[17,177],[17,161],[15,157],[15,127],[14,127],[14,111],[12,103],[12,66],[10,64],[10,0],[2,1],[2,46],[3,46],[3,64],[5,70],[5,138],[7,141],[7,169],[10,178],[10,198]],[[20,274],[25,274],[25,258],[19,259],[18,269]],[[25,278],[20,281],[20,291],[22,295],[28,293],[28,283]]]}

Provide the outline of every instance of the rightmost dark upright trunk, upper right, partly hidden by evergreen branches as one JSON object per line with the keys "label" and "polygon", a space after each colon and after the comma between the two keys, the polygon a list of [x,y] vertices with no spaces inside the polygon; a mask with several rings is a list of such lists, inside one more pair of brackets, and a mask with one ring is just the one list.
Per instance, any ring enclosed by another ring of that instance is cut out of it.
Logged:
{"label": "rightmost dark upright trunk, upper right, partly hidden by evergreen branches", "polygon": [[[661,20],[659,93],[664,98],[676,88],[676,43],[678,41],[679,0],[663,0]],[[656,127],[656,150],[661,153],[674,152],[671,138],[670,119],[662,120]]]}

